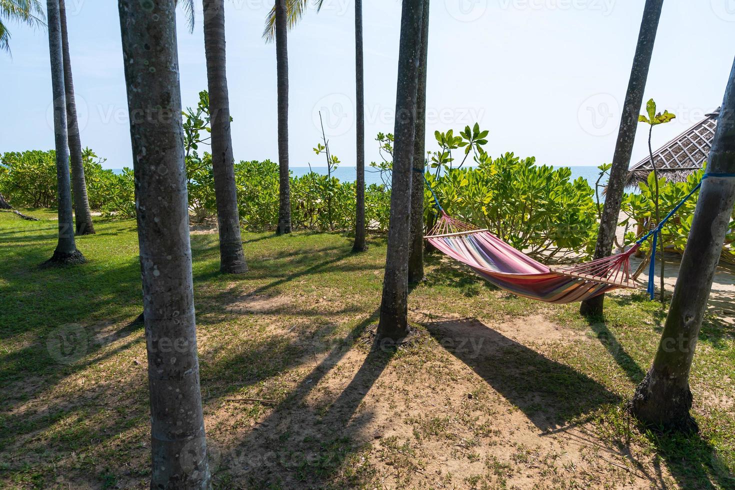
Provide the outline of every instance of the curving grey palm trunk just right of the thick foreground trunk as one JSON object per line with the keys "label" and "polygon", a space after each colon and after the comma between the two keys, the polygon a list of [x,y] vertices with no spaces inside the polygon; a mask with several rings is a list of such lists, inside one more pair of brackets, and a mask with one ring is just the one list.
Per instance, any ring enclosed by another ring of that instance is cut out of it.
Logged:
{"label": "curving grey palm trunk just right of the thick foreground trunk", "polygon": [[207,58],[209,115],[212,127],[212,171],[220,234],[220,270],[242,274],[248,270],[240,235],[240,212],[234,183],[229,93],[225,54],[224,0],[204,0],[204,56]]}

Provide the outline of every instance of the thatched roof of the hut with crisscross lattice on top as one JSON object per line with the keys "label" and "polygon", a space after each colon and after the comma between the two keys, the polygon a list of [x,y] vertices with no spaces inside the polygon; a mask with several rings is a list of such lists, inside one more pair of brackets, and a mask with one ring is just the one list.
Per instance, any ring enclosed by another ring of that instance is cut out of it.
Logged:
{"label": "thatched roof of the hut with crisscross lattice on top", "polygon": [[[670,181],[681,182],[686,181],[692,172],[702,168],[703,162],[709,155],[719,115],[720,107],[717,107],[703,120],[653,151],[653,161],[656,162],[659,176],[666,177]],[[632,187],[639,182],[645,182],[651,171],[653,167],[650,164],[650,156],[646,156],[645,159],[628,169],[625,186]]]}

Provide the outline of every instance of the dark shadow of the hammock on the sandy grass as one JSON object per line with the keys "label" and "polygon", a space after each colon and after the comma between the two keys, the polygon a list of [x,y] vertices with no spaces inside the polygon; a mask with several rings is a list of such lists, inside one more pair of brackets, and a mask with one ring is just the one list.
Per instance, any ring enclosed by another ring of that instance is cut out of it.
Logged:
{"label": "dark shadow of the hammock on the sandy grass", "polygon": [[431,336],[520,408],[542,431],[620,398],[592,378],[515,342],[476,318],[423,324]]}

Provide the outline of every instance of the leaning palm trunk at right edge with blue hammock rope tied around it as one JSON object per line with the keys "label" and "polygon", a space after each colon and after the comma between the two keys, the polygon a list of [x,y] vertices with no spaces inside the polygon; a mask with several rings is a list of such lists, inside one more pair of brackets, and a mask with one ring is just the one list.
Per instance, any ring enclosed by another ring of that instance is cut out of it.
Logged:
{"label": "leaning palm trunk at right edge with blue hammock rope tied around it", "polygon": [[[735,62],[709,151],[707,173],[735,174]],[[697,428],[689,415],[689,371],[734,204],[735,178],[710,177],[702,182],[659,349],[628,405],[643,422],[665,428]]]}

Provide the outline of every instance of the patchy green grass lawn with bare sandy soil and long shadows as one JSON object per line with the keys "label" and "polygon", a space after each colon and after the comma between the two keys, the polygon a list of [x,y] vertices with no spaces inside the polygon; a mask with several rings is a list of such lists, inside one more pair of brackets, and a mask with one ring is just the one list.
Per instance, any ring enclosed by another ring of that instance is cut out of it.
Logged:
{"label": "patchy green grass lawn with bare sandy soil and long shadows", "polygon": [[[145,488],[146,342],[135,222],[95,223],[89,262],[40,269],[53,213],[0,213],[0,487]],[[611,295],[606,319],[488,286],[427,258],[416,334],[372,347],[383,237],[246,233],[250,272],[192,236],[210,466],[218,488],[735,488],[735,328],[708,316],[696,436],[642,430],[623,404],[665,311]],[[242,401],[257,398],[259,401]]]}

